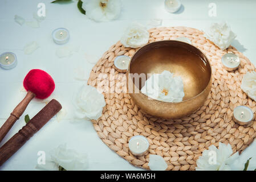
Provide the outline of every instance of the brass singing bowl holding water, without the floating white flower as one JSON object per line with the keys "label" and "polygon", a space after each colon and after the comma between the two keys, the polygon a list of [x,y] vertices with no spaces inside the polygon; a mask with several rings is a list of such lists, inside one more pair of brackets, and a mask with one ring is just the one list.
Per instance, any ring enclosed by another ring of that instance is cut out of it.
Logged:
{"label": "brass singing bowl holding water, without the floating white flower", "polygon": [[[140,92],[149,77],[147,73],[164,70],[182,78],[185,96],[181,102],[162,102]],[[143,75],[147,78],[143,79]],[[144,113],[177,119],[192,114],[204,104],[212,85],[211,76],[208,58],[199,49],[188,43],[163,40],[149,43],[133,55],[127,72],[127,86],[132,100]]]}

